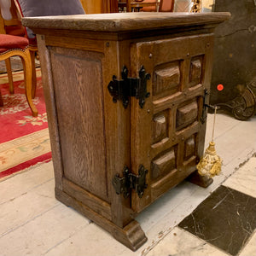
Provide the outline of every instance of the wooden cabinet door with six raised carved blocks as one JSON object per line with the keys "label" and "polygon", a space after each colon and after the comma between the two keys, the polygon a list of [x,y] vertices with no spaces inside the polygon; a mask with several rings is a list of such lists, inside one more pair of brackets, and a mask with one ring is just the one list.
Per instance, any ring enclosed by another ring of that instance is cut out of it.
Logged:
{"label": "wooden cabinet door with six raised carved blocks", "polygon": [[141,66],[150,73],[143,108],[131,99],[131,170],[147,170],[142,198],[131,195],[140,212],[196,169],[203,153],[204,90],[209,87],[212,34],[131,44],[131,76]]}

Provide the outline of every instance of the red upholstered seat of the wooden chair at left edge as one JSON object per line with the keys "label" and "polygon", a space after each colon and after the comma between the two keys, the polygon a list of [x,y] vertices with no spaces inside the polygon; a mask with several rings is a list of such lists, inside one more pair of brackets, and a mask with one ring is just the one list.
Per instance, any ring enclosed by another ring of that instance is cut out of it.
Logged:
{"label": "red upholstered seat of the wooden chair at left edge", "polygon": [[0,34],[0,53],[9,49],[26,49],[27,46],[27,38]]}

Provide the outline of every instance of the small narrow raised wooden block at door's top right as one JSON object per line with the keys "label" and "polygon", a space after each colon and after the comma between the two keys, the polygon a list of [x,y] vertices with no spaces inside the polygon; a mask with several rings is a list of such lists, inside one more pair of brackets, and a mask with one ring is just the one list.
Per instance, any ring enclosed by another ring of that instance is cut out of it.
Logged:
{"label": "small narrow raised wooden block at door's top right", "polygon": [[189,70],[189,86],[201,84],[203,67],[203,56],[195,56],[191,59],[190,70]]}

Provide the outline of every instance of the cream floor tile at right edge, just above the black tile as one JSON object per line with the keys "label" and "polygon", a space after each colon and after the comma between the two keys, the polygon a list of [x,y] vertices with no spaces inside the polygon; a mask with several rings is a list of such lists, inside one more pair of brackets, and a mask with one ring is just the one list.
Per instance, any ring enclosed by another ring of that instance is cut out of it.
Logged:
{"label": "cream floor tile at right edge, just above the black tile", "polygon": [[224,183],[224,186],[256,197],[256,157],[252,157]]}

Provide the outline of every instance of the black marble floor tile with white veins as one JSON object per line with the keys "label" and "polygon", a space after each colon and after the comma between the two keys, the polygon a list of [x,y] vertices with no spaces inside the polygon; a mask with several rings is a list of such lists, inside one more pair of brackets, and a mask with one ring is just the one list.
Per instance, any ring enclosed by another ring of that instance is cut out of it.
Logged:
{"label": "black marble floor tile with white veins", "polygon": [[256,228],[255,213],[255,198],[220,186],[179,227],[236,255]]}

